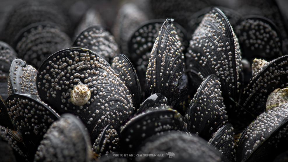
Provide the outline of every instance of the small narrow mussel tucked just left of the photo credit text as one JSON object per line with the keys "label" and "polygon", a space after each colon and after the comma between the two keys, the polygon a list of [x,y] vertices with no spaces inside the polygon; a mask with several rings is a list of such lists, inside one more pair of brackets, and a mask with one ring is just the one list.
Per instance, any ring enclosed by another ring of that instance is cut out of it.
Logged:
{"label": "small narrow mussel tucked just left of the photo credit text", "polygon": [[99,134],[92,149],[97,157],[109,156],[120,151],[120,127],[125,121],[108,124]]}

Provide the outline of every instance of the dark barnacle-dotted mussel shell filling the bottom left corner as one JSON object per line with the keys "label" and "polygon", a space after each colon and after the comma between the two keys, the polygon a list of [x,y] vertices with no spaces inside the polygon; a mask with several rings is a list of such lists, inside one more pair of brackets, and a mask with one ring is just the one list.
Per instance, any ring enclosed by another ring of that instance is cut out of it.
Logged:
{"label": "dark barnacle-dotted mussel shell filling the bottom left corner", "polygon": [[21,133],[0,126],[0,156],[1,161],[28,161]]}

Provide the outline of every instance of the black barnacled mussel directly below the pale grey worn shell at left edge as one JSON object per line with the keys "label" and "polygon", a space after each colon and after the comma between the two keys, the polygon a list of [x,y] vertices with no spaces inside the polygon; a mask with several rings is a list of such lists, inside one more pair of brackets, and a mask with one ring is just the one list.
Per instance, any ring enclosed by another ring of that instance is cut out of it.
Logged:
{"label": "black barnacled mussel directly below the pale grey worn shell at left edge", "polygon": [[43,135],[60,116],[46,104],[27,94],[10,95],[7,107],[14,130],[22,134],[29,156],[33,157]]}

